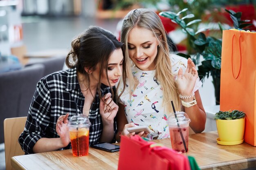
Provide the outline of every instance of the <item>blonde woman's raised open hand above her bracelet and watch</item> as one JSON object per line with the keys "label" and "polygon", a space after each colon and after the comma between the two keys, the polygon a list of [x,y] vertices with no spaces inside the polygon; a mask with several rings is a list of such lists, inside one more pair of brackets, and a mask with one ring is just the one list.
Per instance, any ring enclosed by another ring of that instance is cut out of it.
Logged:
{"label": "blonde woman's raised open hand above her bracelet and watch", "polygon": [[184,75],[182,68],[180,68],[178,72],[177,84],[180,94],[183,96],[191,95],[197,78],[198,71],[195,69],[193,61],[189,58]]}

